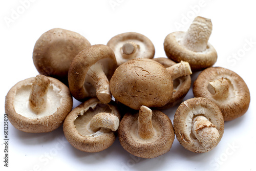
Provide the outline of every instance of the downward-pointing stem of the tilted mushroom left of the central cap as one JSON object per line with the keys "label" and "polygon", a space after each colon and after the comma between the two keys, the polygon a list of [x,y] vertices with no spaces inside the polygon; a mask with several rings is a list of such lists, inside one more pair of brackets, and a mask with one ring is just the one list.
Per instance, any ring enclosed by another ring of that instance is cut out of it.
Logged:
{"label": "downward-pointing stem of the tilted mushroom left of the central cap", "polygon": [[88,81],[96,90],[96,96],[102,103],[109,103],[112,95],[110,92],[109,79],[99,64],[93,65],[87,72]]}

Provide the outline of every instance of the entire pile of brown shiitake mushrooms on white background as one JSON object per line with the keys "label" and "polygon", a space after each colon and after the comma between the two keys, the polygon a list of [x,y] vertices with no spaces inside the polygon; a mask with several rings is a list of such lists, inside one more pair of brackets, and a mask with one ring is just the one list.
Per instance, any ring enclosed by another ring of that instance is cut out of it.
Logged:
{"label": "entire pile of brown shiitake mushrooms on white background", "polygon": [[[78,33],[49,30],[33,51],[39,75],[16,83],[6,96],[8,119],[29,133],[63,124],[67,140],[83,152],[103,151],[118,136],[127,152],[155,158],[170,150],[175,135],[189,151],[209,152],[223,136],[224,121],[242,116],[250,103],[238,74],[212,67],[211,31],[211,20],[198,16],[186,32],[165,37],[168,58],[154,58],[152,41],[139,33],[91,46]],[[181,103],[195,71],[201,71],[195,97]],[[72,110],[73,97],[81,104]],[[160,110],[176,104],[172,124]]]}

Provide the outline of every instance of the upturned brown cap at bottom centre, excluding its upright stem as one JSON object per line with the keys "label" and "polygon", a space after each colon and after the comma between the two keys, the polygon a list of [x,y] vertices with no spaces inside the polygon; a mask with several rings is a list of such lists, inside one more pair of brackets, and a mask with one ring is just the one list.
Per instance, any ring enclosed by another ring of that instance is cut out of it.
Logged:
{"label": "upturned brown cap at bottom centre, excluding its upright stem", "polygon": [[141,139],[138,134],[139,113],[127,113],[123,116],[118,138],[122,147],[130,154],[141,158],[155,158],[167,153],[174,141],[172,121],[161,111],[153,110],[152,124],[156,135],[150,140]]}

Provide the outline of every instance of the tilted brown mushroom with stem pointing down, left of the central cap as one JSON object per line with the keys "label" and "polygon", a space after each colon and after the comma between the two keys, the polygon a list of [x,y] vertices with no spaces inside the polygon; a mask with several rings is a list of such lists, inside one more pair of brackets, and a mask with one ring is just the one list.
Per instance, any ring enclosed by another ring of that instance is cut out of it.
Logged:
{"label": "tilted brown mushroom with stem pointing down, left of the central cap", "polygon": [[114,52],[105,45],[93,45],[79,52],[69,69],[69,88],[74,98],[84,101],[97,97],[109,103],[109,80],[117,68]]}

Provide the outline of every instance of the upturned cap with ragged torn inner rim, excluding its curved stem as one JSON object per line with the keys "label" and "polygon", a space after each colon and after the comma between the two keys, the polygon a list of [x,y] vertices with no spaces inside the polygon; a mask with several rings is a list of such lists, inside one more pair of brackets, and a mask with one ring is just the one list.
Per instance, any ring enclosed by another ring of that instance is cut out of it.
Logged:
{"label": "upturned cap with ragged torn inner rim, excluding its curved stem", "polygon": [[101,103],[97,98],[84,101],[73,109],[63,123],[63,132],[72,146],[83,152],[95,153],[110,147],[116,138],[113,131],[102,129],[96,133],[89,129],[90,120],[97,113],[120,114],[114,101]]}

